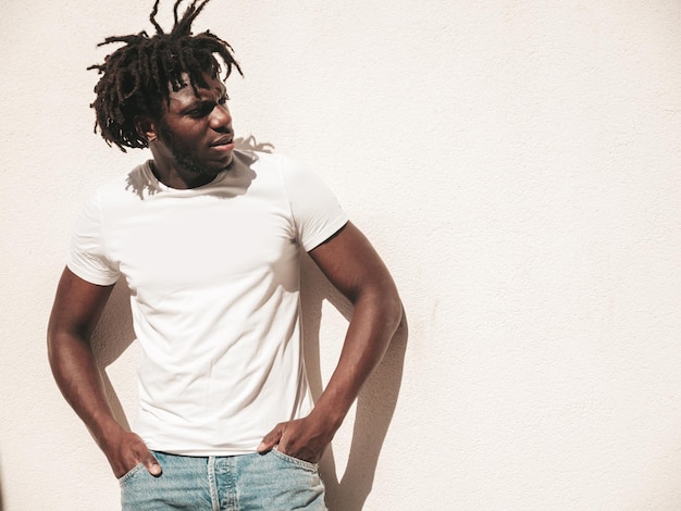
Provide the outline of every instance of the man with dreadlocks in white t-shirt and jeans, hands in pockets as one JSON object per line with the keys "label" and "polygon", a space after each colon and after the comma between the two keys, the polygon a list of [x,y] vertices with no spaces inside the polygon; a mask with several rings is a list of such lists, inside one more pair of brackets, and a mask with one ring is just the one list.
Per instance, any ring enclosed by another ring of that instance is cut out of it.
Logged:
{"label": "man with dreadlocks in white t-shirt and jeans, hands in pockets", "polygon": [[[48,328],[64,397],[92,433],[124,509],[325,509],[318,461],[401,319],[381,259],[333,195],[288,159],[238,151],[221,79],[231,47],[191,23],[111,37],[95,91],[109,144],[152,159],[101,187],[74,232]],[[225,76],[225,78],[226,78]],[[354,304],[315,403],[305,375],[299,254]],[[135,432],[114,419],[89,336],[114,283],[140,345]]]}

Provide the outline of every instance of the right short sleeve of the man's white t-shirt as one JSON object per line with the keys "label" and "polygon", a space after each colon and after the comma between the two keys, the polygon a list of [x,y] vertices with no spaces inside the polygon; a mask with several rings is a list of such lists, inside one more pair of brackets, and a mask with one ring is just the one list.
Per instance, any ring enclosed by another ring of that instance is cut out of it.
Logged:
{"label": "right short sleeve of the man's white t-shirt", "polygon": [[348,222],[348,216],[317,175],[287,159],[282,172],[298,241],[309,252],[337,233]]}

